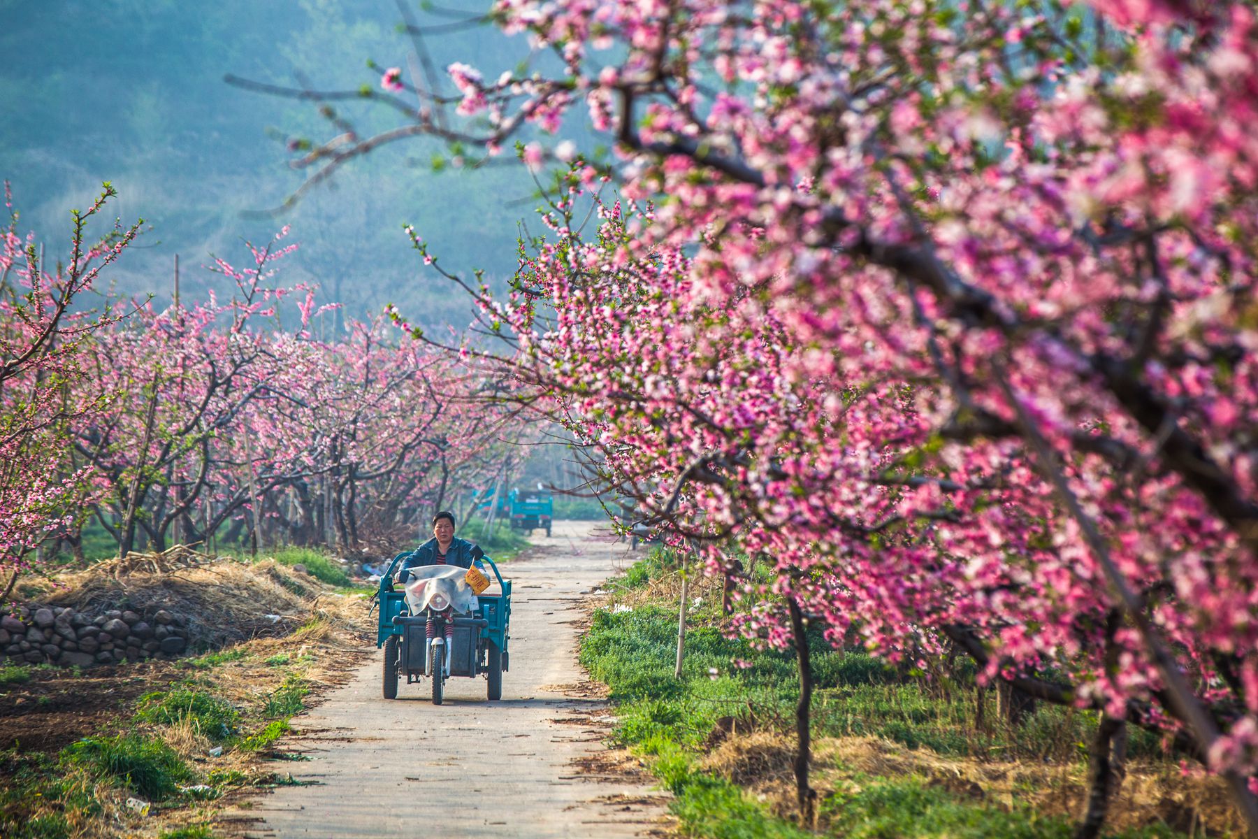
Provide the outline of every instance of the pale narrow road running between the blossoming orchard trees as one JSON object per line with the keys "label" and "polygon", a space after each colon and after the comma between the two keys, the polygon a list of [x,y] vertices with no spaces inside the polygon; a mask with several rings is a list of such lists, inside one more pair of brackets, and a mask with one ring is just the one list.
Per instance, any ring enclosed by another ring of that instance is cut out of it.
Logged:
{"label": "pale narrow road running between the blossoming orchard trees", "polygon": [[296,717],[277,764],[281,786],[226,814],[238,835],[637,836],[667,803],[615,770],[603,746],[608,712],[575,659],[582,594],[632,561],[591,525],[559,522],[554,538],[503,566],[513,581],[511,672],[501,702],[483,678],[452,678],[445,703],[428,683],[380,696],[381,654],[318,708]]}

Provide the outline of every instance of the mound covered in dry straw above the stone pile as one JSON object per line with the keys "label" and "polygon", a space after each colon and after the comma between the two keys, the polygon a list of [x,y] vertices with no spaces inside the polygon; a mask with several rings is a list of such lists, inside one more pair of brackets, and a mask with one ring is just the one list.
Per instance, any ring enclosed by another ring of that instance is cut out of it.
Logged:
{"label": "mound covered in dry straw above the stone pile", "polygon": [[[272,560],[249,565],[195,551],[177,560],[169,553],[67,574],[48,600],[88,614],[165,609],[186,616],[190,647],[218,649],[249,638],[287,635],[311,620],[314,603],[331,594],[314,577]],[[187,561],[190,555],[195,562]]]}

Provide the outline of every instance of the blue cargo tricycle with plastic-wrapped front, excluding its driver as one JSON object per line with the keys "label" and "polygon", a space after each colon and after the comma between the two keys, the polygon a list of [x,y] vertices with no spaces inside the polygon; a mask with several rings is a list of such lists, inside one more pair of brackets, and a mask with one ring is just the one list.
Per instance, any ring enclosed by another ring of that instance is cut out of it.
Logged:
{"label": "blue cargo tricycle with plastic-wrapped front, excluding its driver", "polygon": [[[445,679],[484,674],[489,683],[488,698],[501,699],[502,674],[509,664],[511,580],[503,580],[493,560],[482,556],[497,577],[497,592],[491,585],[473,595],[464,579],[467,569],[450,565],[410,569],[411,579],[405,589],[394,590],[394,574],[408,556],[408,552],[395,556],[389,571],[380,577],[376,647],[385,650],[384,697],[398,698],[398,682],[403,675],[406,684],[418,684],[428,677],[433,703],[442,704]],[[433,638],[428,638],[429,619],[433,620]],[[450,633],[447,633],[447,624],[452,625]]]}

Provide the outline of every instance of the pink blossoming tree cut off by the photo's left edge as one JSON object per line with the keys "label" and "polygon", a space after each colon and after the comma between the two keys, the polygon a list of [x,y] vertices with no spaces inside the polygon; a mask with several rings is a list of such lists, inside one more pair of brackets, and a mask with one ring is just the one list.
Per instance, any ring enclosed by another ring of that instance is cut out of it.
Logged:
{"label": "pink blossoming tree cut off by the photo's left edge", "polygon": [[69,464],[68,424],[99,411],[108,390],[87,380],[83,347],[112,327],[116,309],[88,309],[82,298],[101,270],[135,239],[142,221],[117,224],[98,240],[88,225],[109,184],[86,211],[73,210],[68,263],[48,269],[43,244],[20,235],[5,184],[9,225],[0,230],[0,597],[36,567],[35,550],[74,521],[89,473]]}

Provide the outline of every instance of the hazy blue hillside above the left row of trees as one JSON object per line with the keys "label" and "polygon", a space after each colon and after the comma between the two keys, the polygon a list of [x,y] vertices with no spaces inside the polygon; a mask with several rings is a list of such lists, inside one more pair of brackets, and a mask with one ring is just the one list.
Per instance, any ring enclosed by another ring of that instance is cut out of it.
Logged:
{"label": "hazy blue hillside above the left row of trees", "polygon": [[[479,13],[488,0],[450,0]],[[449,23],[419,11],[424,24]],[[536,186],[508,150],[508,165],[434,171],[438,141],[408,140],[351,161],[296,208],[276,208],[311,170],[294,171],[293,138],[322,142],[338,131],[311,102],[226,84],[225,74],[313,89],[379,89],[382,67],[409,81],[410,39],[394,0],[0,0],[0,179],[13,185],[21,233],[35,230],[47,258],[69,252],[69,210],[86,208],[109,180],[109,218],[137,216],[147,231],[104,277],[128,294],[170,299],[180,255],[181,293],[228,293],[205,270],[210,254],[242,267],[244,240],[267,242],[292,225],[297,253],[279,282],[313,282],[321,302],[356,317],[398,303],[411,322],[462,330],[462,292],[424,270],[401,226],[415,225],[449,270],[509,277],[521,220]],[[424,42],[444,68],[463,60],[487,78],[527,54],[522,38],[489,26],[449,28]],[[408,96],[408,94],[403,94]],[[367,136],[399,114],[359,101],[335,103]]]}

